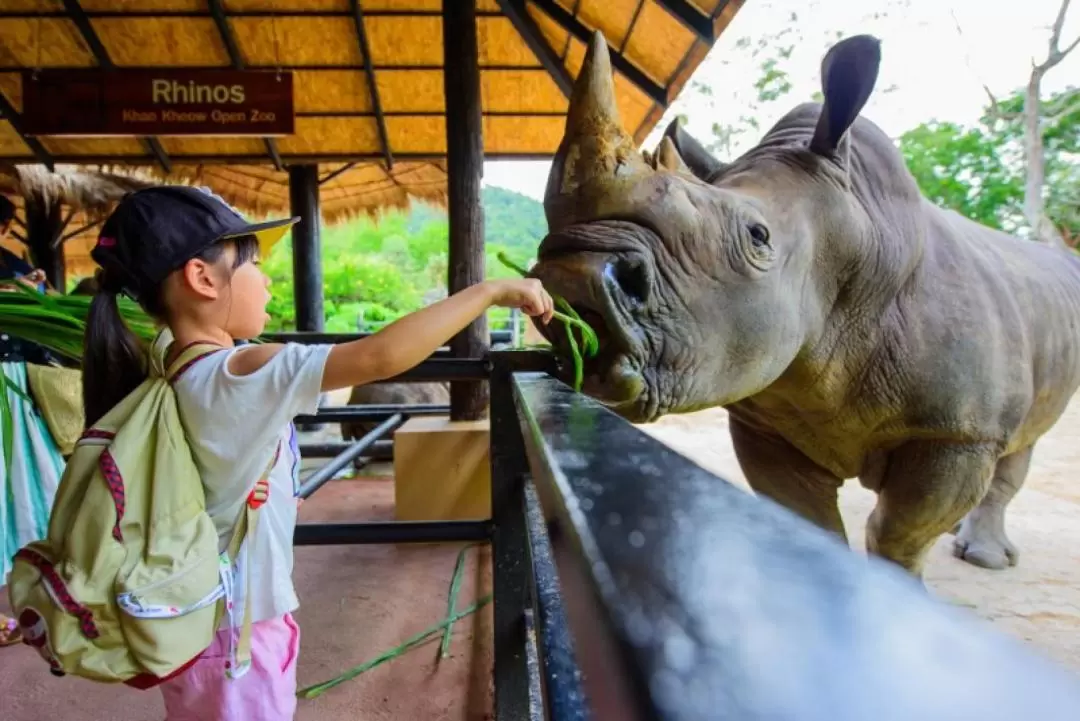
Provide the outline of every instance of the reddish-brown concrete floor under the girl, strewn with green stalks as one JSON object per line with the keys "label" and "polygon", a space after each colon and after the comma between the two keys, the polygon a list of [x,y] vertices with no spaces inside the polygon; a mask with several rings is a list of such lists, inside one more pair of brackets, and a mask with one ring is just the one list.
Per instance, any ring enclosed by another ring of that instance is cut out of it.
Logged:
{"label": "reddish-brown concrete floor under the girl, strewn with green stalks", "polygon": [[[335,480],[300,507],[301,521],[390,520],[386,478]],[[460,544],[297,548],[300,688],[334,678],[441,621]],[[469,552],[459,606],[490,591],[487,547]],[[6,608],[3,609],[6,611]],[[458,622],[451,656],[437,640],[313,699],[298,721],[482,721],[491,718],[491,607]],[[2,721],[153,721],[157,691],[49,675],[23,645],[0,649]]]}

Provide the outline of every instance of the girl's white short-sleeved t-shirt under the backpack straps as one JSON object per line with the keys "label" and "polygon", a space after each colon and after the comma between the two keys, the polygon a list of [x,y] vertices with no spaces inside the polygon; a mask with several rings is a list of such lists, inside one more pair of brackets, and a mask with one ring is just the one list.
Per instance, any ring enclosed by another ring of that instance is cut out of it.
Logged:
{"label": "girl's white short-sleeved t-shirt under the backpack straps", "polygon": [[[243,609],[247,562],[252,622],[289,613],[299,606],[293,587],[293,530],[299,448],[293,417],[314,413],[330,345],[286,343],[262,368],[248,376],[229,372],[241,348],[199,359],[176,381],[180,421],[206,489],[206,512],[217,526],[224,550],[233,525],[281,443],[270,472],[270,493],[254,536],[238,559],[234,604]],[[242,617],[242,616],[241,616]],[[228,616],[222,626],[228,625]]]}

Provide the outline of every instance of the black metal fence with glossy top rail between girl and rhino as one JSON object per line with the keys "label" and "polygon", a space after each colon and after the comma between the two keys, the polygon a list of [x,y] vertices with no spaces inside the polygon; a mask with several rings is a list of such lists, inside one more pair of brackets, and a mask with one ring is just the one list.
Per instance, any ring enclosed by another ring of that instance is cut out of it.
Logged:
{"label": "black metal fence with glossy top rail between girl and rhino", "polygon": [[455,364],[443,380],[491,383],[492,517],[296,543],[490,541],[498,721],[1080,719],[1070,672],[573,393],[550,356]]}

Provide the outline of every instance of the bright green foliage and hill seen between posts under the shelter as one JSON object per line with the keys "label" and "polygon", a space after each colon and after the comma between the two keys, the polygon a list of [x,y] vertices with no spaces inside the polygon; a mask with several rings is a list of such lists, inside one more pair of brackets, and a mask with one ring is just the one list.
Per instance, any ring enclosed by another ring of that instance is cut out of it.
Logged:
{"label": "bright green foliage and hill seen between posts under the shelter", "polygon": [[[530,266],[548,232],[543,206],[503,188],[482,190],[487,277],[513,277],[498,261],[503,253]],[[323,294],[326,330],[375,330],[446,295],[449,223],[446,213],[426,204],[410,213],[392,212],[377,222],[357,219],[322,229]],[[286,236],[262,270],[272,299],[268,330],[296,327],[292,239]],[[492,309],[491,327],[504,327],[507,309]]]}

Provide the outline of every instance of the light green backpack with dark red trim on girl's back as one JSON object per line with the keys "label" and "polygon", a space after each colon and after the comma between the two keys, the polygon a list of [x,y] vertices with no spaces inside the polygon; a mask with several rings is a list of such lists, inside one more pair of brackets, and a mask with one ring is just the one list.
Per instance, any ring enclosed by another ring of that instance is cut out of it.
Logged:
{"label": "light green backpack with dark red trim on girl's back", "polygon": [[187,348],[166,369],[171,341],[167,330],[154,339],[149,378],[83,433],[46,538],[15,555],[14,615],[56,676],[158,685],[194,663],[226,614],[240,630],[222,672],[239,677],[251,665],[252,594],[238,623],[234,560],[258,521],[273,461],[219,553],[172,383],[221,349]]}

